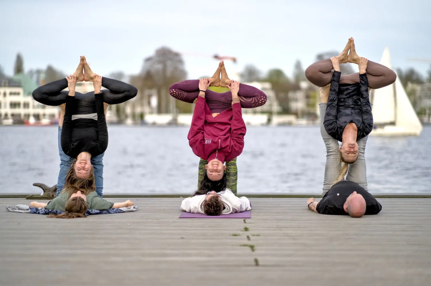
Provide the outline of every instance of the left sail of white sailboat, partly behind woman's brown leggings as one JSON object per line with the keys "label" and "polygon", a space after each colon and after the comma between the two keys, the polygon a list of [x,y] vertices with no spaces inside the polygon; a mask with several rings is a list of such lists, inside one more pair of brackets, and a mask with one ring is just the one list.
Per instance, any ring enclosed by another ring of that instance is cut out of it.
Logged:
{"label": "left sail of white sailboat, partly behind woman's brown leggings", "polygon": [[[384,49],[380,64],[390,69],[389,49]],[[372,113],[375,125],[395,123],[395,94],[394,85],[373,90]]]}

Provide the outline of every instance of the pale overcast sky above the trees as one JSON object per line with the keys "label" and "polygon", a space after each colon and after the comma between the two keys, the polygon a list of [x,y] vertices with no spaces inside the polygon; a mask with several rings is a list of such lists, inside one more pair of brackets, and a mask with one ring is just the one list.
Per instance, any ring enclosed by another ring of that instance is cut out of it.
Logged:
{"label": "pale overcast sky above the trees", "polygon": [[[425,73],[431,62],[431,1],[425,0],[0,0],[0,65],[12,74],[16,53],[25,70],[48,64],[72,73],[85,55],[93,71],[136,74],[160,46],[184,53],[189,78],[212,75],[211,55],[235,56],[236,69],[262,71],[341,50],[353,37],[360,56]],[[356,4],[357,3],[357,4]],[[230,65],[229,65],[230,66]],[[230,67],[231,69],[234,69]],[[228,70],[229,72],[229,70]]]}

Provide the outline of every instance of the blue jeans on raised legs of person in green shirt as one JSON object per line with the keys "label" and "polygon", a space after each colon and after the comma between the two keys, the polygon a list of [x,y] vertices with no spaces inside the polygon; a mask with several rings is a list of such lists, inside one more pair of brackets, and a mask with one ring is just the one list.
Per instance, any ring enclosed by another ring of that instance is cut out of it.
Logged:
{"label": "blue jeans on raised legs of person in green shirt", "polygon": [[[58,151],[60,155],[60,172],[57,180],[57,196],[61,193],[64,182],[66,181],[67,172],[72,165],[73,158],[64,154],[61,148],[61,126],[58,126]],[[99,156],[91,158],[91,165],[94,167],[94,184],[96,185],[96,194],[103,197],[103,152]]]}

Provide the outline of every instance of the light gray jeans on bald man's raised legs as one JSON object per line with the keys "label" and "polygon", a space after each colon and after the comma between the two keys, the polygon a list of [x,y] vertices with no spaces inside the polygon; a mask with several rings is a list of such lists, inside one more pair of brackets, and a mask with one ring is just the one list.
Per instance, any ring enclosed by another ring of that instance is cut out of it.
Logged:
{"label": "light gray jeans on bald man's raised legs", "polygon": [[[325,118],[326,103],[319,103],[320,112],[320,134],[322,134],[323,142],[326,146],[326,164],[325,164],[325,178],[323,179],[323,195],[329,191],[332,183],[340,175],[341,164],[338,161],[340,153],[340,145],[338,140],[332,138],[323,126]],[[367,144],[368,135],[357,141],[359,152],[358,160],[350,164],[349,171],[347,172],[346,179],[358,183],[365,191],[368,191],[367,184],[367,170],[365,166],[365,145]]]}

